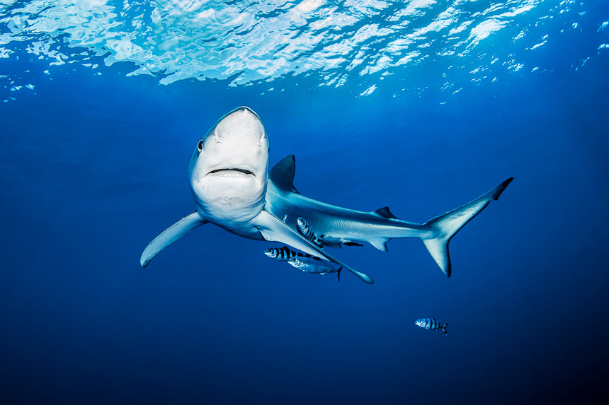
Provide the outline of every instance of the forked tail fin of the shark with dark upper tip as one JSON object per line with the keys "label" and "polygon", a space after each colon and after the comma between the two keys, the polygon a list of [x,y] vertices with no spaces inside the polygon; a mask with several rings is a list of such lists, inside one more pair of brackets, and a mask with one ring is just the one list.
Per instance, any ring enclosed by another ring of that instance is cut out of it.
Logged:
{"label": "forked tail fin of the shark with dark upper tip", "polygon": [[423,225],[429,225],[436,237],[421,238],[423,244],[427,248],[433,260],[440,267],[446,276],[450,277],[450,257],[448,256],[448,242],[455,236],[463,226],[474,218],[480,211],[486,207],[491,200],[499,199],[499,195],[503,192],[508,184],[513,180],[513,177],[508,178],[493,189],[490,189],[477,199],[469,201],[467,204],[460,206],[453,211],[443,213],[436,218],[427,221]]}

